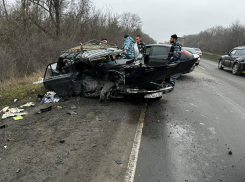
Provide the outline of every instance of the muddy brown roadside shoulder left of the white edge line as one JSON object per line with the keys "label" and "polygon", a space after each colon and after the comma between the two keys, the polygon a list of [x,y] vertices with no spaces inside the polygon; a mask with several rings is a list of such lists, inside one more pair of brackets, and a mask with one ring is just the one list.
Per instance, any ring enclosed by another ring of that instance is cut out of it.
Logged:
{"label": "muddy brown roadside shoulder left of the white edge line", "polygon": [[123,181],[142,105],[78,97],[37,103],[23,120],[0,120],[8,125],[0,129],[0,181]]}

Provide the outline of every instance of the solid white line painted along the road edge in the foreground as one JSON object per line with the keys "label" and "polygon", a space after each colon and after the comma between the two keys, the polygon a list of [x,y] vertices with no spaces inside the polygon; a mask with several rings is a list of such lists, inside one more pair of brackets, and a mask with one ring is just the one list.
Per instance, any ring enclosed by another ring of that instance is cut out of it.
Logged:
{"label": "solid white line painted along the road edge in the foreground", "polygon": [[144,126],[146,108],[147,108],[147,103],[145,103],[143,108],[141,109],[139,123],[138,123],[137,129],[136,129],[136,133],[135,133],[135,137],[134,137],[134,143],[133,143],[133,147],[132,147],[131,154],[129,157],[128,169],[126,172],[124,182],[133,182],[134,181],[134,175],[135,175],[135,170],[136,170],[136,165],[137,165],[137,160],[138,160],[138,154],[139,154],[139,149],[140,149],[141,135],[142,135],[142,129]]}

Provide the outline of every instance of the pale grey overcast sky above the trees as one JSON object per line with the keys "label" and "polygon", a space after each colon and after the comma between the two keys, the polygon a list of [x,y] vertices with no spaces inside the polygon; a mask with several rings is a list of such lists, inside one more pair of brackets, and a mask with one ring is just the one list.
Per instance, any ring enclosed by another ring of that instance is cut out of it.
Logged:
{"label": "pale grey overcast sky above the trees", "polygon": [[157,42],[199,33],[216,25],[244,23],[244,0],[93,0],[96,7],[111,7],[114,12],[137,13],[143,31]]}

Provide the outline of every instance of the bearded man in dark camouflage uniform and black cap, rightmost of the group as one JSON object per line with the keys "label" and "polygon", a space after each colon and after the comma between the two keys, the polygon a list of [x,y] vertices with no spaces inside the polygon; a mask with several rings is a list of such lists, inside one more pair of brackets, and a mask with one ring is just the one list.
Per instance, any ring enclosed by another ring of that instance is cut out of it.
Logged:
{"label": "bearded man in dark camouflage uniform and black cap, rightmost of the group", "polygon": [[[178,63],[181,58],[181,43],[178,41],[178,36],[176,34],[170,37],[170,43],[172,46],[168,53],[168,64]],[[172,75],[169,80],[169,86],[174,88],[176,81],[176,75]]]}

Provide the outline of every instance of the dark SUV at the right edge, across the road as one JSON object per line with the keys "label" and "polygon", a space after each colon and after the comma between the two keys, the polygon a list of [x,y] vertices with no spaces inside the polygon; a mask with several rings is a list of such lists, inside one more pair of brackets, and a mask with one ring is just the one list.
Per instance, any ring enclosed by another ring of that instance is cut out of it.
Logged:
{"label": "dark SUV at the right edge, across the road", "polygon": [[239,75],[245,72],[245,46],[235,47],[229,53],[221,56],[218,68],[231,68],[232,74]]}

